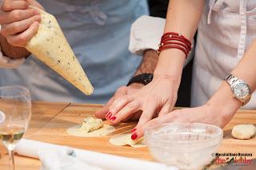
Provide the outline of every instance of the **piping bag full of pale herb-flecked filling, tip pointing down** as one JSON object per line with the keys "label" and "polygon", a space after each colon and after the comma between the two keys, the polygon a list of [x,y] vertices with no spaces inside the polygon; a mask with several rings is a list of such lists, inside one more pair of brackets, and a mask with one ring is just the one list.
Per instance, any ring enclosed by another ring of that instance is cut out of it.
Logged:
{"label": "piping bag full of pale herb-flecked filling, tip pointing down", "polygon": [[[36,7],[30,6],[30,8]],[[82,93],[90,95],[94,87],[90,84],[70,44],[66,41],[56,18],[43,10],[38,10],[42,20],[37,33],[26,43],[26,49],[70,81]]]}

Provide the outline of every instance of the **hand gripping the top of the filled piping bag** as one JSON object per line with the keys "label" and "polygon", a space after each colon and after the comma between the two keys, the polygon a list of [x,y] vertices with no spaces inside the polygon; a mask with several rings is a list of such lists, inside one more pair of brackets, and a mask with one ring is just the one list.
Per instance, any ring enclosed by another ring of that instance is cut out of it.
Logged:
{"label": "hand gripping the top of the filled piping bag", "polygon": [[39,11],[29,6],[44,8],[34,0],[3,0],[0,10],[1,34],[10,45],[25,47],[38,30]]}

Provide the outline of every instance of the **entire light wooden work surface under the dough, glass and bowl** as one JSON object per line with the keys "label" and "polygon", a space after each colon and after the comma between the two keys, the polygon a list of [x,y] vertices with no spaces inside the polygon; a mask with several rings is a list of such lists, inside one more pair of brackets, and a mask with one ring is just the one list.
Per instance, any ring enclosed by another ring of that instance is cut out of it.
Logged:
{"label": "entire light wooden work surface under the dough, glass and bowl", "polygon": [[[103,105],[93,104],[71,104],[34,102],[34,116],[30,122],[30,128],[25,138],[38,140],[51,144],[67,145],[73,148],[82,148],[94,152],[103,152],[117,156],[126,156],[139,160],[154,161],[150,156],[148,148],[132,148],[130,146],[115,146],[109,143],[112,136],[130,132],[136,125],[136,121],[128,121],[120,125],[114,125],[116,131],[107,136],[79,137],[70,136],[66,129],[74,125],[82,124],[83,118],[94,117],[94,113]],[[44,122],[41,122],[43,120]],[[104,121],[109,124],[108,121]],[[40,125],[39,125],[40,124]],[[250,140],[237,140],[231,136],[234,125],[253,124],[256,125],[256,111],[238,110],[234,118],[225,128],[224,140],[219,148],[219,153],[252,153],[250,159],[256,157],[256,138]],[[8,169],[7,156],[0,160],[0,169]],[[38,169],[41,162],[25,156],[15,156],[17,169]]]}

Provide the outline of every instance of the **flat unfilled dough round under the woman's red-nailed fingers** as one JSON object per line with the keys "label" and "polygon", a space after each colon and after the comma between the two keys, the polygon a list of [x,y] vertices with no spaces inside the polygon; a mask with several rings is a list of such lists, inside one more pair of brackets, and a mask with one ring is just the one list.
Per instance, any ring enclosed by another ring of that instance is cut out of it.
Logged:
{"label": "flat unfilled dough round under the woman's red-nailed fingers", "polygon": [[110,138],[110,143],[114,145],[130,145],[132,147],[146,147],[144,137],[141,137],[138,140],[132,140],[130,138],[131,134],[126,133],[126,134],[121,134],[118,136],[114,136]]}

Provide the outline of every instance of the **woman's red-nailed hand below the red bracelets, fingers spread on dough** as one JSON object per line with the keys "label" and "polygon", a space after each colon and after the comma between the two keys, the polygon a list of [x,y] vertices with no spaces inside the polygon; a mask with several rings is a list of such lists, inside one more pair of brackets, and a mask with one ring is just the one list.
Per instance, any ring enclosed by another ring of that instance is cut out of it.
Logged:
{"label": "woman's red-nailed hand below the red bracelets, fingers spread on dough", "polygon": [[179,81],[174,80],[174,77],[167,75],[156,76],[137,92],[117,97],[110,105],[106,119],[115,124],[141,111],[142,115],[136,118],[139,118],[138,126],[142,126],[155,116],[156,110],[158,117],[169,113],[177,101]]}

